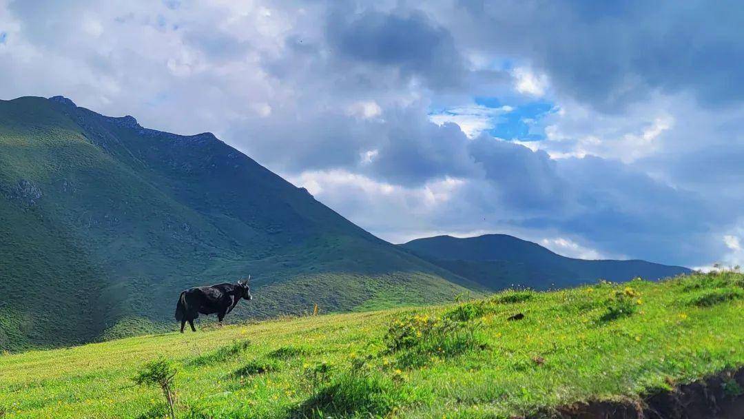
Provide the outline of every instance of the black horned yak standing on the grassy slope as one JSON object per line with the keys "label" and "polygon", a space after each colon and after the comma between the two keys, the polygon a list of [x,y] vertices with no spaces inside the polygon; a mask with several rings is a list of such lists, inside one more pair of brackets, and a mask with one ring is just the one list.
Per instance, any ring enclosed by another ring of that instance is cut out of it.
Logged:
{"label": "black horned yak standing on the grassy slope", "polygon": [[201,314],[217,313],[217,320],[222,324],[222,319],[230,313],[237,303],[245,298],[250,301],[251,287],[248,281],[237,281],[237,284],[216,284],[209,287],[194,287],[181,292],[179,302],[176,304],[176,320],[181,322],[181,333],[184,333],[186,322],[191,326],[191,330],[196,332],[193,327],[193,319]]}

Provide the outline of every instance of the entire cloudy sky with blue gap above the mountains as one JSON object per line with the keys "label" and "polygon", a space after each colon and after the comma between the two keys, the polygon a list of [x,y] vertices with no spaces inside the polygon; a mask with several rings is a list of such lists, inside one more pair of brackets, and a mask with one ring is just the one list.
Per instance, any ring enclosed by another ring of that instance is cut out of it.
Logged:
{"label": "entire cloudy sky with blue gap above the mountains", "polygon": [[0,0],[0,98],[214,132],[379,237],[744,262],[737,1]]}

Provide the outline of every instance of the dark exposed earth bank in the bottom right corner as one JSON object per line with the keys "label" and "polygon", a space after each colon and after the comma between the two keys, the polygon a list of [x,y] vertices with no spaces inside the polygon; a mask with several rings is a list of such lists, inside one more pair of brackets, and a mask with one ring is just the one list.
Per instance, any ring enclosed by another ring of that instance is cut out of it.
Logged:
{"label": "dark exposed earth bank in the bottom right corner", "polygon": [[644,400],[589,401],[536,415],[555,419],[744,419],[744,368]]}

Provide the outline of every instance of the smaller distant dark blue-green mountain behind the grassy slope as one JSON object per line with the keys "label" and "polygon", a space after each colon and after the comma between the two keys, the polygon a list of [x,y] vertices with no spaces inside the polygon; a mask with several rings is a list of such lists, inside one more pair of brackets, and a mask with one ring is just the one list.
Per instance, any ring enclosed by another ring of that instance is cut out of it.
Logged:
{"label": "smaller distant dark blue-green mountain behind the grassy slope", "polygon": [[491,290],[512,286],[569,287],[597,279],[659,279],[690,273],[682,266],[645,260],[583,260],[557,255],[536,243],[507,234],[427,237],[400,245],[413,255]]}

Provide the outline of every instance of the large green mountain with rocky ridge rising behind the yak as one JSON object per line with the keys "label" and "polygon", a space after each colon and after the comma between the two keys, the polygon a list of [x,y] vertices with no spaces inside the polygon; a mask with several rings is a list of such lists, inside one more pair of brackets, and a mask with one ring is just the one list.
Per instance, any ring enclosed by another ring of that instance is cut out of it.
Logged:
{"label": "large green mountain with rocky ridge rising behind the yak", "polygon": [[231,318],[482,287],[379,240],[211,133],[65,97],[0,100],[0,348],[158,330],[179,292],[252,275]]}

